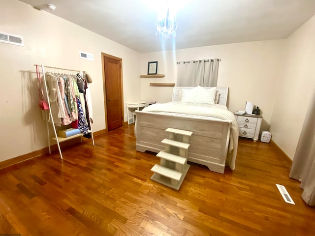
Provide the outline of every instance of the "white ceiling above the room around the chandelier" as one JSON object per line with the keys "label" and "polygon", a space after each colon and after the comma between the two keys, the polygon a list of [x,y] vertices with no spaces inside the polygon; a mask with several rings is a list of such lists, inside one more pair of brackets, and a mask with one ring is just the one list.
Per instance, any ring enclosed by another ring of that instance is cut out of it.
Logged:
{"label": "white ceiling above the room around the chandelier", "polygon": [[163,0],[20,1],[139,53],[284,39],[315,15],[315,0],[178,0],[177,36],[164,40],[155,29]]}

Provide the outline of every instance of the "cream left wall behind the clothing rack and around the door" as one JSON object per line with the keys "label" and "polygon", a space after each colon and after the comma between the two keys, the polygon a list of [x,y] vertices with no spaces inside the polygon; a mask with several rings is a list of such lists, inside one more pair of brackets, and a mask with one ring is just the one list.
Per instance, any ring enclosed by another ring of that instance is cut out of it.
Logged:
{"label": "cream left wall behind the clothing rack and around the door", "polygon": [[[24,39],[24,47],[0,43],[0,161],[48,146],[33,64],[91,75],[94,131],[105,129],[102,52],[123,59],[124,101],[140,99],[139,53],[17,0],[1,0],[0,16],[1,31]],[[95,60],[79,59],[79,51]]]}

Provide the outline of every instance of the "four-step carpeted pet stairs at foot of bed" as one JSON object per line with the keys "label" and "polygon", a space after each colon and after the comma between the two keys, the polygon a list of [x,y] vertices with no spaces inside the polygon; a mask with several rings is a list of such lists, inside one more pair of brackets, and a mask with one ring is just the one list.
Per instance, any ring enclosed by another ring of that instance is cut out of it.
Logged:
{"label": "four-step carpeted pet stairs at foot of bed", "polygon": [[165,151],[157,154],[157,157],[161,158],[160,165],[156,164],[151,169],[155,172],[151,179],[179,190],[190,167],[187,158],[192,132],[173,128],[167,128],[165,131],[169,133],[168,139],[161,141],[165,145]]}

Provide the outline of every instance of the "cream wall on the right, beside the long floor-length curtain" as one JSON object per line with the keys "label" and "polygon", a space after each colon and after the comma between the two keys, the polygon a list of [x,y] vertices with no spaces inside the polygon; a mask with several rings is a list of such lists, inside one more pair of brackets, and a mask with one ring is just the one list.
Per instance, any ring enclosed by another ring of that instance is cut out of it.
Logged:
{"label": "cream wall on the right, beside the long floor-length curtain", "polygon": [[275,106],[273,140],[293,159],[315,89],[315,16],[286,39]]}

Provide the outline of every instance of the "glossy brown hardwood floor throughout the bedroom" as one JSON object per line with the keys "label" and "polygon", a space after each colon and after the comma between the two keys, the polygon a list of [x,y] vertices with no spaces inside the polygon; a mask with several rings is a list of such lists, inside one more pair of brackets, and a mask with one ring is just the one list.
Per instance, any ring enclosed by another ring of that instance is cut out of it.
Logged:
{"label": "glossy brown hardwood floor throughout the bedroom", "polygon": [[[133,125],[0,170],[0,235],[311,236],[315,207],[273,146],[240,139],[236,169],[189,163],[179,191],[150,180]],[[284,202],[276,183],[296,205]]]}

